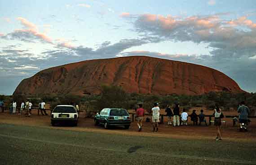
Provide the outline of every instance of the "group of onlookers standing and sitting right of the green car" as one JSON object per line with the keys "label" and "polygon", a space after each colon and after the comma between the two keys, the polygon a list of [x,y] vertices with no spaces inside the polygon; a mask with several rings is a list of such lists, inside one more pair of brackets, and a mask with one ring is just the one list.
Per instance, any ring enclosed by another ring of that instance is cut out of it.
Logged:
{"label": "group of onlookers standing and sitting right of the green car", "polygon": [[[145,110],[142,108],[142,104],[138,104],[139,108],[136,109],[136,117],[137,117],[137,126],[139,128],[138,131],[142,130],[142,122],[143,118],[145,115]],[[168,125],[171,125],[171,118],[173,117],[173,126],[180,126],[180,117],[181,117],[181,125],[188,125],[188,113],[186,112],[186,109],[183,109],[181,115],[180,115],[180,105],[175,104],[175,107],[171,109],[170,105],[167,105],[167,108],[165,109],[165,112],[168,116]],[[245,106],[245,102],[242,101],[241,104],[239,104],[238,107],[238,118],[239,118],[239,123],[240,126],[242,123],[247,124],[248,123],[248,114],[250,113],[250,109]],[[158,103],[154,103],[154,107],[151,109],[151,114],[152,114],[152,126],[153,130],[152,132],[158,132],[158,123],[160,120],[160,108]],[[221,109],[219,106],[216,104],[215,109],[213,110],[213,116],[214,116],[214,126],[216,126],[217,130],[217,135],[216,135],[216,140],[222,140],[221,139],[221,118],[224,117]],[[205,122],[205,125],[207,126],[207,122],[205,119],[205,115],[203,114],[203,109],[200,110],[200,114],[196,114],[196,110],[193,110],[193,112],[190,114],[191,121],[193,122],[193,125],[198,125],[198,118],[199,118],[199,126],[201,125],[202,122]]]}

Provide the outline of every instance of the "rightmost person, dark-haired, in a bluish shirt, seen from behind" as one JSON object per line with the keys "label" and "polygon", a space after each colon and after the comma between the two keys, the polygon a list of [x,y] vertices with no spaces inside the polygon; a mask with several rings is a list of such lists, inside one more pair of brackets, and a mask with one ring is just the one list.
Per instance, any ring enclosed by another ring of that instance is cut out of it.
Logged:
{"label": "rightmost person, dark-haired, in a bluish shirt, seen from behind", "polygon": [[[245,102],[242,101],[241,105],[238,107],[238,120],[239,120],[239,126],[242,127],[242,123],[244,123],[247,127],[248,125],[248,114],[250,113],[250,109],[245,106]],[[247,131],[247,130],[246,130]]]}

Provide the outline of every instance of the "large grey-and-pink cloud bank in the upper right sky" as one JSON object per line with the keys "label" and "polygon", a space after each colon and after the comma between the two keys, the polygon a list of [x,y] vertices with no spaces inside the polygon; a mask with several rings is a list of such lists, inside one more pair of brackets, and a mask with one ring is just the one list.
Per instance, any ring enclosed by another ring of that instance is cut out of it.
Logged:
{"label": "large grey-and-pink cloud bank in the upper right sky", "polygon": [[137,33],[170,41],[209,43],[216,58],[256,54],[256,24],[247,17],[232,21],[219,15],[177,18],[171,15],[144,14],[133,22]]}

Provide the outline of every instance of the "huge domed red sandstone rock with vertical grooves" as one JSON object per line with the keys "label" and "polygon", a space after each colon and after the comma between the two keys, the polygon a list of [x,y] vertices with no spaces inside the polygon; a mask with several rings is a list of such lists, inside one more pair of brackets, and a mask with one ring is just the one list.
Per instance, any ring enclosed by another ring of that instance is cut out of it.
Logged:
{"label": "huge domed red sandstone rock with vertical grooves", "polygon": [[128,93],[200,95],[244,92],[225,74],[201,65],[148,56],[88,60],[45,69],[18,85],[13,95],[99,94],[102,84]]}

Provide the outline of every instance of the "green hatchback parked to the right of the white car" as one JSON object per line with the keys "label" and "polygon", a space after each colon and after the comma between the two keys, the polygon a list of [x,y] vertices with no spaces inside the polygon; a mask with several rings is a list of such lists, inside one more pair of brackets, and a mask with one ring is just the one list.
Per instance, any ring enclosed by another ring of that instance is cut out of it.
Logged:
{"label": "green hatchback parked to the right of the white car", "polygon": [[95,125],[102,124],[105,129],[110,126],[124,126],[129,129],[131,118],[126,109],[105,108],[94,117]]}

